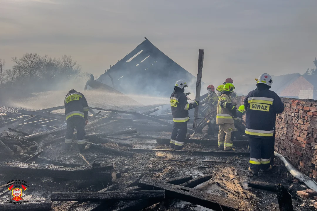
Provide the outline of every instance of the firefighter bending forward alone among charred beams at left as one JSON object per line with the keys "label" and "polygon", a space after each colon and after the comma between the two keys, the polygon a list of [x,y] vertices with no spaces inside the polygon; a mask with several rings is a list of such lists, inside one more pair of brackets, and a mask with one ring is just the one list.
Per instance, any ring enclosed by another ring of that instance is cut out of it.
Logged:
{"label": "firefighter bending forward alone among charred beams at left", "polygon": [[77,130],[77,145],[82,151],[85,148],[85,125],[88,120],[88,104],[85,96],[76,90],[69,90],[65,100],[66,115],[66,137],[65,150],[68,151],[72,145],[74,129]]}

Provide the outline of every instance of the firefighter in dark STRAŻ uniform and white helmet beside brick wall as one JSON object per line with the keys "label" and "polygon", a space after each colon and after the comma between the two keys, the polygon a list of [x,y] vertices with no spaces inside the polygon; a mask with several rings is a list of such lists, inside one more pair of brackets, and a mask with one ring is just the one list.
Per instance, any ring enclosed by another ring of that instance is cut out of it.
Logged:
{"label": "firefighter in dark STRA\u017b uniform and white helmet beside brick wall", "polygon": [[284,110],[280,97],[269,90],[272,77],[263,73],[256,80],[256,89],[244,99],[246,109],[245,134],[250,138],[249,172],[257,175],[260,168],[272,169],[270,165],[272,146],[274,146],[275,117]]}

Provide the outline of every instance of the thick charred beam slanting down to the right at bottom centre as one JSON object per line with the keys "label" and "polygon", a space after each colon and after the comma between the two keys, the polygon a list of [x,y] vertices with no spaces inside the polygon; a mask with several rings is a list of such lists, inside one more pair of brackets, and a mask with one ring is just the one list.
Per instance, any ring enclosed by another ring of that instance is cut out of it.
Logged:
{"label": "thick charred beam slanting down to the right at bottom centre", "polygon": [[165,189],[165,196],[168,199],[176,198],[216,211],[233,211],[239,209],[239,202],[235,200],[205,193],[192,188],[153,180],[149,177],[142,177],[138,186],[145,189]]}

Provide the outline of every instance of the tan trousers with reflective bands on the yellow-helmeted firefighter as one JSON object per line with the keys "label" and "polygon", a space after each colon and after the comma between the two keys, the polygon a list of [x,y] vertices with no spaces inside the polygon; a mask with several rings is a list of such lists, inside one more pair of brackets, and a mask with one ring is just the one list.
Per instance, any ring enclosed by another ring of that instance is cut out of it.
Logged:
{"label": "tan trousers with reflective bands on the yellow-helmeted firefighter", "polygon": [[[218,147],[224,146],[224,150],[231,150],[233,146],[233,142],[231,140],[232,132],[235,130],[235,125],[233,123],[223,123],[219,125],[219,133],[218,133]],[[223,136],[224,143],[223,143]]]}

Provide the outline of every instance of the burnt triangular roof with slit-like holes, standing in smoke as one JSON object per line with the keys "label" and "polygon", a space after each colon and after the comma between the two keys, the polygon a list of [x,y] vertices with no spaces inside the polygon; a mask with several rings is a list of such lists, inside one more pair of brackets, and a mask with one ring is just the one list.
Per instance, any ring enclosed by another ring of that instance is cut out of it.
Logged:
{"label": "burnt triangular roof with slit-like holes, standing in smoke", "polygon": [[196,88],[195,76],[145,38],[97,80],[125,94],[152,95],[155,91],[157,96],[168,97],[179,79],[184,79],[193,91]]}

